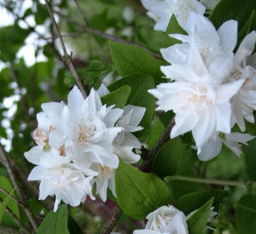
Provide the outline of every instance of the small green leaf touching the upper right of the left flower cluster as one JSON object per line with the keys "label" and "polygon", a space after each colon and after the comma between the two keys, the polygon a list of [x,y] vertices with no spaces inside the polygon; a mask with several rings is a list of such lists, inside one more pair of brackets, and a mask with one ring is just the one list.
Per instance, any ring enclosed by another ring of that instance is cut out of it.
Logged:
{"label": "small green leaf touching the upper right of the left flower cluster", "polygon": [[102,103],[107,104],[107,106],[115,105],[115,107],[124,108],[130,94],[131,87],[125,85],[109,94],[102,96],[101,100]]}

